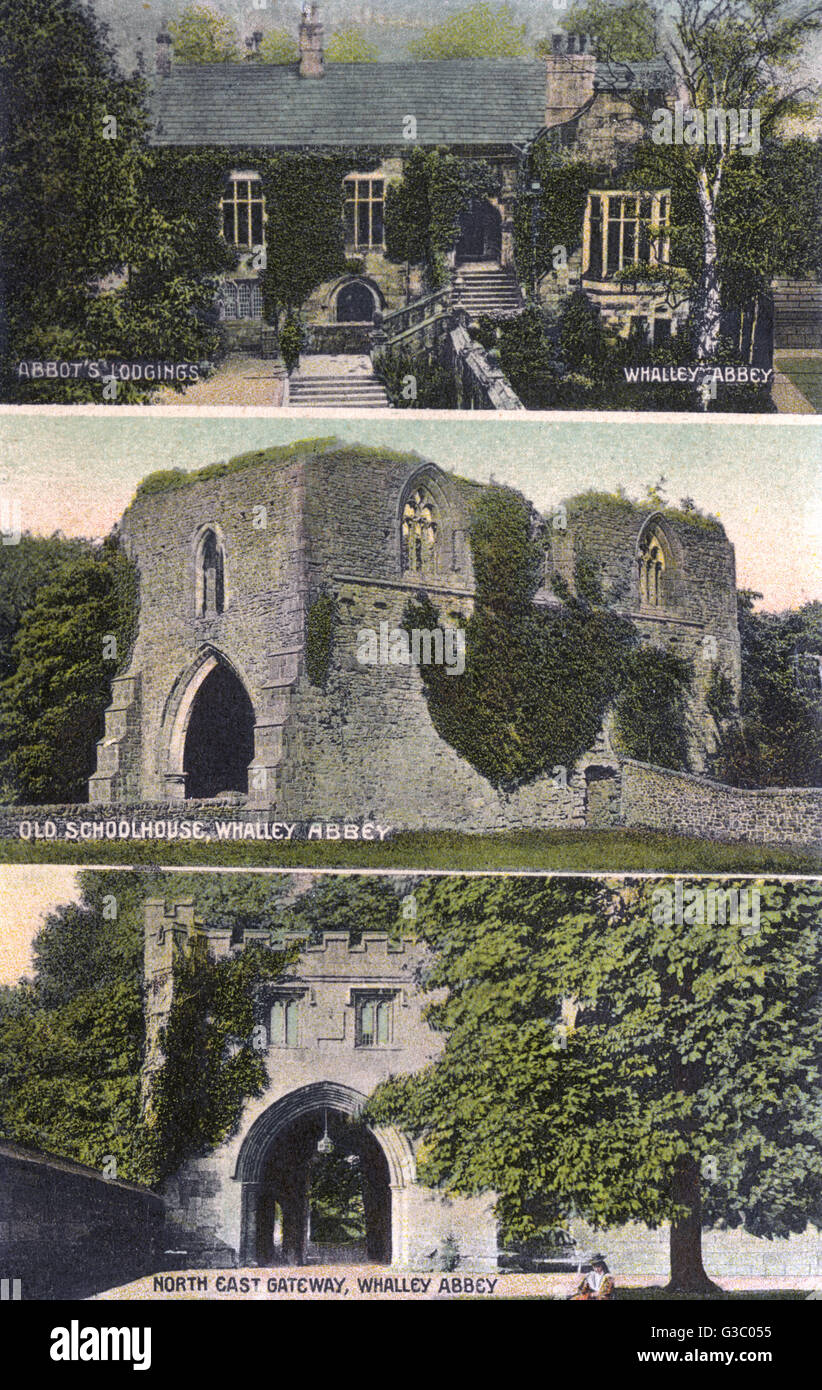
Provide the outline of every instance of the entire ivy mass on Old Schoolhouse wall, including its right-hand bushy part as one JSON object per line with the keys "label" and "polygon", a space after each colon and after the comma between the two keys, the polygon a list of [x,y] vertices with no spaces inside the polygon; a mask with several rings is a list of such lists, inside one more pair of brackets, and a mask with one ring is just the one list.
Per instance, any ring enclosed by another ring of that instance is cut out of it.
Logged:
{"label": "entire ivy mass on Old Schoolhouse wall, including its right-hand bushy part", "polygon": [[[687,767],[690,667],[636,645],[633,626],[604,605],[586,553],[577,555],[576,592],[556,577],[561,605],[535,605],[544,553],[534,514],[524,498],[497,485],[476,503],[470,543],[476,598],[465,671],[420,666],[440,737],[509,791],[573,766],[615,705],[624,752]],[[406,606],[406,631],[440,624],[427,594]]]}

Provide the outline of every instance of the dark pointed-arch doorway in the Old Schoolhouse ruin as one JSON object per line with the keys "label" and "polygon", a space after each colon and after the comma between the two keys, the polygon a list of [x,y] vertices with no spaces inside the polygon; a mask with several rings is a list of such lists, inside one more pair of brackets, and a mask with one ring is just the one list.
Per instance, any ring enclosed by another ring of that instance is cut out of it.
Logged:
{"label": "dark pointed-arch doorway in the Old Schoolhouse ruin", "polygon": [[202,681],[185,734],[182,769],[185,795],[217,796],[248,792],[248,766],[255,756],[255,710],[242,681],[217,662]]}

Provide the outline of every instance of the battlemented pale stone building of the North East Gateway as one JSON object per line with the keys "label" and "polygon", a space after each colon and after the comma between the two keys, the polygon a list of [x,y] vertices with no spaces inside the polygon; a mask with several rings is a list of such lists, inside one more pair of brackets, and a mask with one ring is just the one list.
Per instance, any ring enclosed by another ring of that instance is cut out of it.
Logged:
{"label": "battlemented pale stone building of the North East Gateway", "polygon": [[[174,962],[195,935],[220,959],[231,933],[195,920],[193,903],[146,902],[146,1095],[161,1065],[159,1036],[174,992]],[[248,929],[268,944],[270,930]],[[289,942],[282,938],[282,944]],[[433,1268],[446,1243],[472,1269],[497,1266],[494,1194],[445,1197],[416,1180],[414,1145],[394,1126],[366,1126],[359,1112],[389,1074],[433,1061],[441,1038],[423,1019],[416,970],[423,951],[363,930],[325,931],[300,942],[299,959],[256,1001],[255,1044],[270,1076],[249,1101],[238,1133],[192,1159],[163,1187],[167,1240],[186,1268],[303,1265],[317,1258],[310,1232],[312,1169],[335,1152],[360,1179],[364,1243],[346,1261]],[[324,1250],[321,1257],[334,1258]]]}

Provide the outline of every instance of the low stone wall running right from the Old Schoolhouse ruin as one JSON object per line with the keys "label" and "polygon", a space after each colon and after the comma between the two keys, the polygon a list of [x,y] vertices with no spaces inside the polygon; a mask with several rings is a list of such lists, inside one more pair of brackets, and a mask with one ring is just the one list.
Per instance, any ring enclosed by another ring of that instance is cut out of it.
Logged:
{"label": "low stone wall running right from the Old Schoolhouse ruin", "polygon": [[620,820],[705,840],[822,849],[822,787],[748,791],[624,759]]}

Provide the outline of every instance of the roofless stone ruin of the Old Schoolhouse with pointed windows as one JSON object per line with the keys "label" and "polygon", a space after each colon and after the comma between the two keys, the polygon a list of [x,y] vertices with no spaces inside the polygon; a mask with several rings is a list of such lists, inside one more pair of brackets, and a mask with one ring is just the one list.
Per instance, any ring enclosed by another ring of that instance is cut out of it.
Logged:
{"label": "roofless stone ruin of the Old Schoolhouse with pointed windows", "polygon": [[[234,799],[280,819],[431,830],[606,824],[619,767],[608,719],[566,778],[503,794],[438,735],[417,664],[385,651],[363,659],[363,632],[389,642],[424,591],[442,632],[428,659],[448,663],[445,632],[472,612],[469,527],[481,492],[416,455],[332,439],[147,478],[120,527],[139,575],[139,627],[113,681],[90,799]],[[709,674],[719,667],[733,689],[740,681],[722,527],[586,493],[551,517],[534,513],[534,530],[545,553],[535,603],[559,605],[552,577],[573,588],[584,556],[643,641],[691,660],[700,771],[712,746]],[[328,664],[317,673],[307,644],[323,612]]]}

